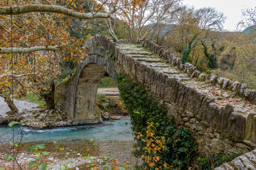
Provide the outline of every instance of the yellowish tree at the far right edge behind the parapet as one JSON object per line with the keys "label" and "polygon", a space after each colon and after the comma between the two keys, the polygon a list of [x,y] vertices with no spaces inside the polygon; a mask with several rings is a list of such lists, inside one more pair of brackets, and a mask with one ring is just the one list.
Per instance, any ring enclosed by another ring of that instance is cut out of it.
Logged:
{"label": "yellowish tree at the far right edge behind the parapet", "polygon": [[[225,36],[225,51],[220,58],[220,69],[216,72],[221,77],[246,83],[250,88],[256,88],[256,50],[255,50],[255,24],[256,7],[245,8],[242,11],[242,21],[238,28],[242,32],[229,33]],[[246,30],[246,31],[245,31]]]}

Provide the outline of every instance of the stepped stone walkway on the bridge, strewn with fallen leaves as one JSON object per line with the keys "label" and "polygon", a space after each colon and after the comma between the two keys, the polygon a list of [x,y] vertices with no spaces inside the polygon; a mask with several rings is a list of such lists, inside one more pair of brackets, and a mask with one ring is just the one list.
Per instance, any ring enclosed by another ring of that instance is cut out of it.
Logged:
{"label": "stepped stone walkway on the bridge, strewn with fallen leaves", "polygon": [[202,94],[213,98],[213,101],[218,106],[225,106],[230,103],[234,107],[234,111],[242,113],[247,116],[249,113],[256,112],[256,106],[249,101],[245,101],[234,91],[228,91],[218,88],[210,84],[210,81],[200,81],[198,79],[191,79],[188,74],[179,71],[171,64],[167,63],[164,59],[159,58],[154,52],[147,50],[142,45],[134,44],[117,44],[122,52],[132,56],[137,62],[142,62],[148,67],[154,67],[157,72],[164,72],[171,78],[179,79],[186,83],[186,85],[195,88]]}

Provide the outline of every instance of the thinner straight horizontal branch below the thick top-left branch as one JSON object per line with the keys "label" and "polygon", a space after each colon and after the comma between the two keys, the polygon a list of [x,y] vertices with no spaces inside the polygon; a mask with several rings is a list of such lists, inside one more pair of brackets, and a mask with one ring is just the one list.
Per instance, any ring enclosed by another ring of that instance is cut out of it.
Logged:
{"label": "thinner straight horizontal branch below the thick top-left branch", "polygon": [[[29,48],[21,48],[21,47],[13,47],[13,53],[26,53],[26,52],[36,52],[42,50],[51,50],[56,51],[59,50],[60,47],[57,46],[49,46],[49,47],[29,47]],[[11,47],[0,47],[0,54],[9,54],[11,53]]]}

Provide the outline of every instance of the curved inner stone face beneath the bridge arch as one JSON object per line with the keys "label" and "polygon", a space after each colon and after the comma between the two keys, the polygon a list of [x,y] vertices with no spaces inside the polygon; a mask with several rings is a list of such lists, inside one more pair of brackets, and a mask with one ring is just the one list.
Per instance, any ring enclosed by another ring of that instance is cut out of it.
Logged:
{"label": "curved inner stone face beneath the bridge arch", "polygon": [[[95,57],[101,58],[98,55]],[[106,74],[108,74],[117,85],[114,79],[115,74],[112,65],[107,67],[106,64],[101,64],[102,62],[99,62],[100,60],[97,61],[85,62],[85,64],[82,63],[81,69],[79,70],[80,72],[78,72],[78,81],[74,98],[74,123],[101,123],[100,115],[95,114],[97,89],[100,85],[100,81]]]}

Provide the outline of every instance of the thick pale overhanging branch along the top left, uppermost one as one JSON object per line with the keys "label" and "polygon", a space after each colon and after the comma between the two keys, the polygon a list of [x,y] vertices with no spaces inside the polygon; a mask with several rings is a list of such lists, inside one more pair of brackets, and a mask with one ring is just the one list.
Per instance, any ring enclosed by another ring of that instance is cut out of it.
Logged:
{"label": "thick pale overhanging branch along the top left, uppermost one", "polygon": [[22,13],[31,12],[50,12],[50,13],[63,13],[67,16],[73,16],[80,19],[93,19],[93,18],[109,18],[116,10],[110,10],[110,13],[80,13],[73,9],[66,8],[65,6],[54,5],[24,5],[24,6],[1,6],[0,15],[18,15]]}

